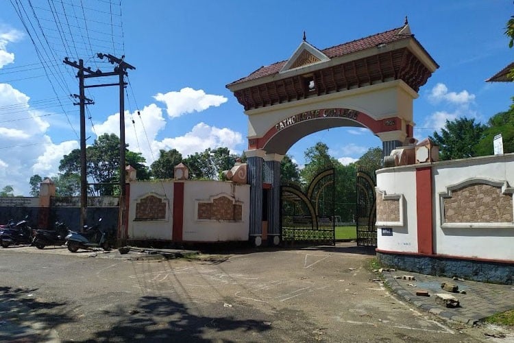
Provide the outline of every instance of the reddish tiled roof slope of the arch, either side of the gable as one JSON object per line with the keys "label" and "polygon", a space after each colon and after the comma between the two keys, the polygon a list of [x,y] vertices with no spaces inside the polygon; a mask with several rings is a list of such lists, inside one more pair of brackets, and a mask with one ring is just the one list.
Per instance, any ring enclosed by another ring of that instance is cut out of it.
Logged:
{"label": "reddish tiled roof slope of the arch, either side of the gable", "polygon": [[[414,36],[413,34],[399,34],[403,28],[404,28],[404,26],[397,27],[395,29],[390,29],[389,31],[382,32],[380,34],[374,34],[372,36],[367,36],[365,38],[352,40],[352,42],[343,43],[340,45],[336,45],[334,47],[328,47],[326,49],[321,50],[321,52],[323,52],[323,54],[325,54],[328,58],[334,58],[334,57],[339,57],[339,56],[343,56],[346,54],[352,54],[356,51],[365,50],[370,47],[376,47],[377,45],[379,45],[381,43],[385,43],[385,44],[393,43],[396,40],[402,40],[404,38],[409,38],[409,37]],[[280,71],[280,69],[282,69],[282,67],[284,67],[284,64],[286,64],[286,63],[287,63],[287,60],[284,60],[281,62],[273,63],[269,66],[260,67],[259,69],[257,69],[253,73],[249,74],[245,78],[236,80],[236,81],[228,84],[228,86],[230,86],[232,84],[238,84],[241,82],[255,80],[258,78],[262,78],[264,76],[276,74]]]}

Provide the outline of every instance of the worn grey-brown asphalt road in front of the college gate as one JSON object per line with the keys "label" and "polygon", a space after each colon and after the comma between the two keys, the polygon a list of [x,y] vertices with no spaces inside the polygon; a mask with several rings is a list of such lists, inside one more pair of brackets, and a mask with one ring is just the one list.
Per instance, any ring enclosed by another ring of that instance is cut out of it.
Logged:
{"label": "worn grey-brown asphalt road in front of the college gate", "polygon": [[90,255],[0,249],[0,341],[12,340],[2,319],[38,332],[26,342],[481,341],[392,296],[356,247]]}

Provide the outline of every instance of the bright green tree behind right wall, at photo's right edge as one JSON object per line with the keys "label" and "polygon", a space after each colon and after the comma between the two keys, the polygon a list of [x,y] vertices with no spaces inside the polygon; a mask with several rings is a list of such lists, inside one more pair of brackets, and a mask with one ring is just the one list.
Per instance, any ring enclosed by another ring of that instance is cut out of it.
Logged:
{"label": "bright green tree behind right wall, at photo's right edge", "polygon": [[482,139],[476,145],[478,156],[492,155],[493,139],[502,134],[503,152],[514,152],[514,106],[506,112],[500,112],[489,118]]}

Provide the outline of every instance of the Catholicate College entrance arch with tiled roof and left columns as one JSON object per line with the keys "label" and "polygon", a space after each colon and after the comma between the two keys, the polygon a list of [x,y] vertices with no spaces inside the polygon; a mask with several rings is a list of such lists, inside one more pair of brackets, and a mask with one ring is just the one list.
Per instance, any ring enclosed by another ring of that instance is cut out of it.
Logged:
{"label": "Catholicate College entrance arch with tiled roof and left columns", "polygon": [[304,37],[288,60],[228,84],[248,116],[250,239],[280,244],[280,161],[295,142],[328,128],[362,127],[389,155],[413,138],[413,100],[438,67],[405,21],[321,50]]}

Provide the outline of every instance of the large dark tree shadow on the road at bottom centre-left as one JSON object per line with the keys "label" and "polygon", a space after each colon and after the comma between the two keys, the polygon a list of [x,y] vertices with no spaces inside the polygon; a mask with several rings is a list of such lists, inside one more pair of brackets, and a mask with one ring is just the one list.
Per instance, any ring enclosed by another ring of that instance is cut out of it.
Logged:
{"label": "large dark tree shadow on the road at bottom centre-left", "polygon": [[[110,329],[82,342],[240,342],[242,334],[271,329],[269,324],[258,320],[197,316],[184,305],[163,296],[143,296],[136,309],[126,311],[119,307],[108,315],[115,320]],[[234,339],[227,340],[227,333]]]}

